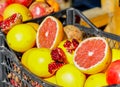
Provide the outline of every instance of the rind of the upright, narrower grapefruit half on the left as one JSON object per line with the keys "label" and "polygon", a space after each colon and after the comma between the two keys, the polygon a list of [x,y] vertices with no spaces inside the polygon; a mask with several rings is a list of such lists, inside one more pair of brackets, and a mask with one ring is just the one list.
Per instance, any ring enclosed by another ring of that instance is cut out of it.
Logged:
{"label": "rind of the upright, narrower grapefruit half on the left", "polygon": [[53,17],[53,16],[47,16],[47,17],[42,21],[42,23],[40,24],[40,26],[39,26],[39,28],[38,28],[38,30],[37,30],[36,45],[37,45],[38,48],[41,48],[41,45],[40,45],[40,42],[39,42],[39,32],[40,32],[40,30],[41,30],[41,27],[42,27],[43,23],[44,23],[48,18],[52,19],[52,20],[55,21],[56,24],[57,24],[57,33],[56,33],[56,35],[55,35],[55,39],[54,39],[53,44],[52,44],[52,46],[50,47],[50,49],[56,48],[56,47],[58,46],[58,44],[59,44],[59,43],[62,41],[62,39],[63,39],[64,31],[63,31],[63,25],[62,25],[62,23],[61,23],[57,18],[55,18],[55,17]]}

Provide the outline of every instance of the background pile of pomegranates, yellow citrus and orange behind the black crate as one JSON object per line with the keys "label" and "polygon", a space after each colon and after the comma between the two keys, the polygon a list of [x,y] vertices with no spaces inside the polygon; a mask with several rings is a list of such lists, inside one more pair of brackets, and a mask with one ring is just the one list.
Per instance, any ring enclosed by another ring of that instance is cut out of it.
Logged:
{"label": "background pile of pomegranates, yellow citrus and orange behind the black crate", "polygon": [[60,10],[56,0],[0,0],[0,21],[14,13],[20,13],[22,20],[48,15]]}

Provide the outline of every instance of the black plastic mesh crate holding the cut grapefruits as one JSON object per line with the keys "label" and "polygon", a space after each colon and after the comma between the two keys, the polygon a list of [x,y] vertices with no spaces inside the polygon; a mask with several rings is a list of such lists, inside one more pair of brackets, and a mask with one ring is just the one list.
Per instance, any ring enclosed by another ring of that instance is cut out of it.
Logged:
{"label": "black plastic mesh crate holding the cut grapefruits", "polygon": [[[120,36],[97,29],[82,12],[77,9],[68,8],[50,15],[59,18],[63,25],[71,24],[79,27],[79,29],[84,32],[84,39],[91,36],[100,36],[108,41],[111,48],[120,49]],[[40,24],[45,17],[46,16],[26,22],[36,22]],[[88,28],[79,24],[79,19],[84,20],[90,27]],[[0,87],[60,87],[32,74],[20,63],[20,57],[20,53],[14,52],[8,47],[5,35],[0,32]],[[13,79],[19,81],[19,85],[16,85]],[[14,83],[14,85],[11,83]],[[34,84],[36,84],[36,86]]]}

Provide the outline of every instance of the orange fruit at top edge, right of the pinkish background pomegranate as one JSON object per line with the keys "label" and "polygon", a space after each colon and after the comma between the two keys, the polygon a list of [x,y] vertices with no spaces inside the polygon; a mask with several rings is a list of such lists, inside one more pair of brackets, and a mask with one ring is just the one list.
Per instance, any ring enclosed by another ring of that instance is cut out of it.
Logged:
{"label": "orange fruit at top edge, right of the pinkish background pomegranate", "polygon": [[54,12],[58,12],[60,10],[60,5],[56,0],[46,0],[46,2],[54,9]]}

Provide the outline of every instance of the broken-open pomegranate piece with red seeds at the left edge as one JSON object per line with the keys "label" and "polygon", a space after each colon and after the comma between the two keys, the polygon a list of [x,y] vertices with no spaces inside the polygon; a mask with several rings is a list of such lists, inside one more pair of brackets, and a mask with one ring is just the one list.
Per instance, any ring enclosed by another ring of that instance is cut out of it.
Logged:
{"label": "broken-open pomegranate piece with red seeds at the left edge", "polygon": [[7,33],[13,26],[22,23],[22,15],[15,13],[7,19],[0,22],[1,31]]}

